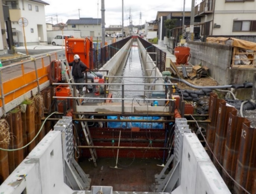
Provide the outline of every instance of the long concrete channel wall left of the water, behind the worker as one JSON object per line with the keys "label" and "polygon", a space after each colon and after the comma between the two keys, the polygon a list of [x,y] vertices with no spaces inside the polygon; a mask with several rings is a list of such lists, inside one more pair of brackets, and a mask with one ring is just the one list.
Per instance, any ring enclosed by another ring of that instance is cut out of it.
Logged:
{"label": "long concrete channel wall left of the water, behind the worker", "polygon": [[[127,56],[129,55],[129,52],[127,52],[132,44],[132,39],[130,39],[130,41],[128,41],[122,49],[120,49],[105,65],[103,65],[103,67],[101,67],[99,70],[108,70],[108,75],[116,75],[117,69],[119,68],[119,66],[121,65],[121,63],[123,62],[124,59],[127,58]],[[102,72],[103,76],[107,76],[107,72]],[[109,78],[109,82],[111,83],[111,81],[113,80],[113,78]]]}

